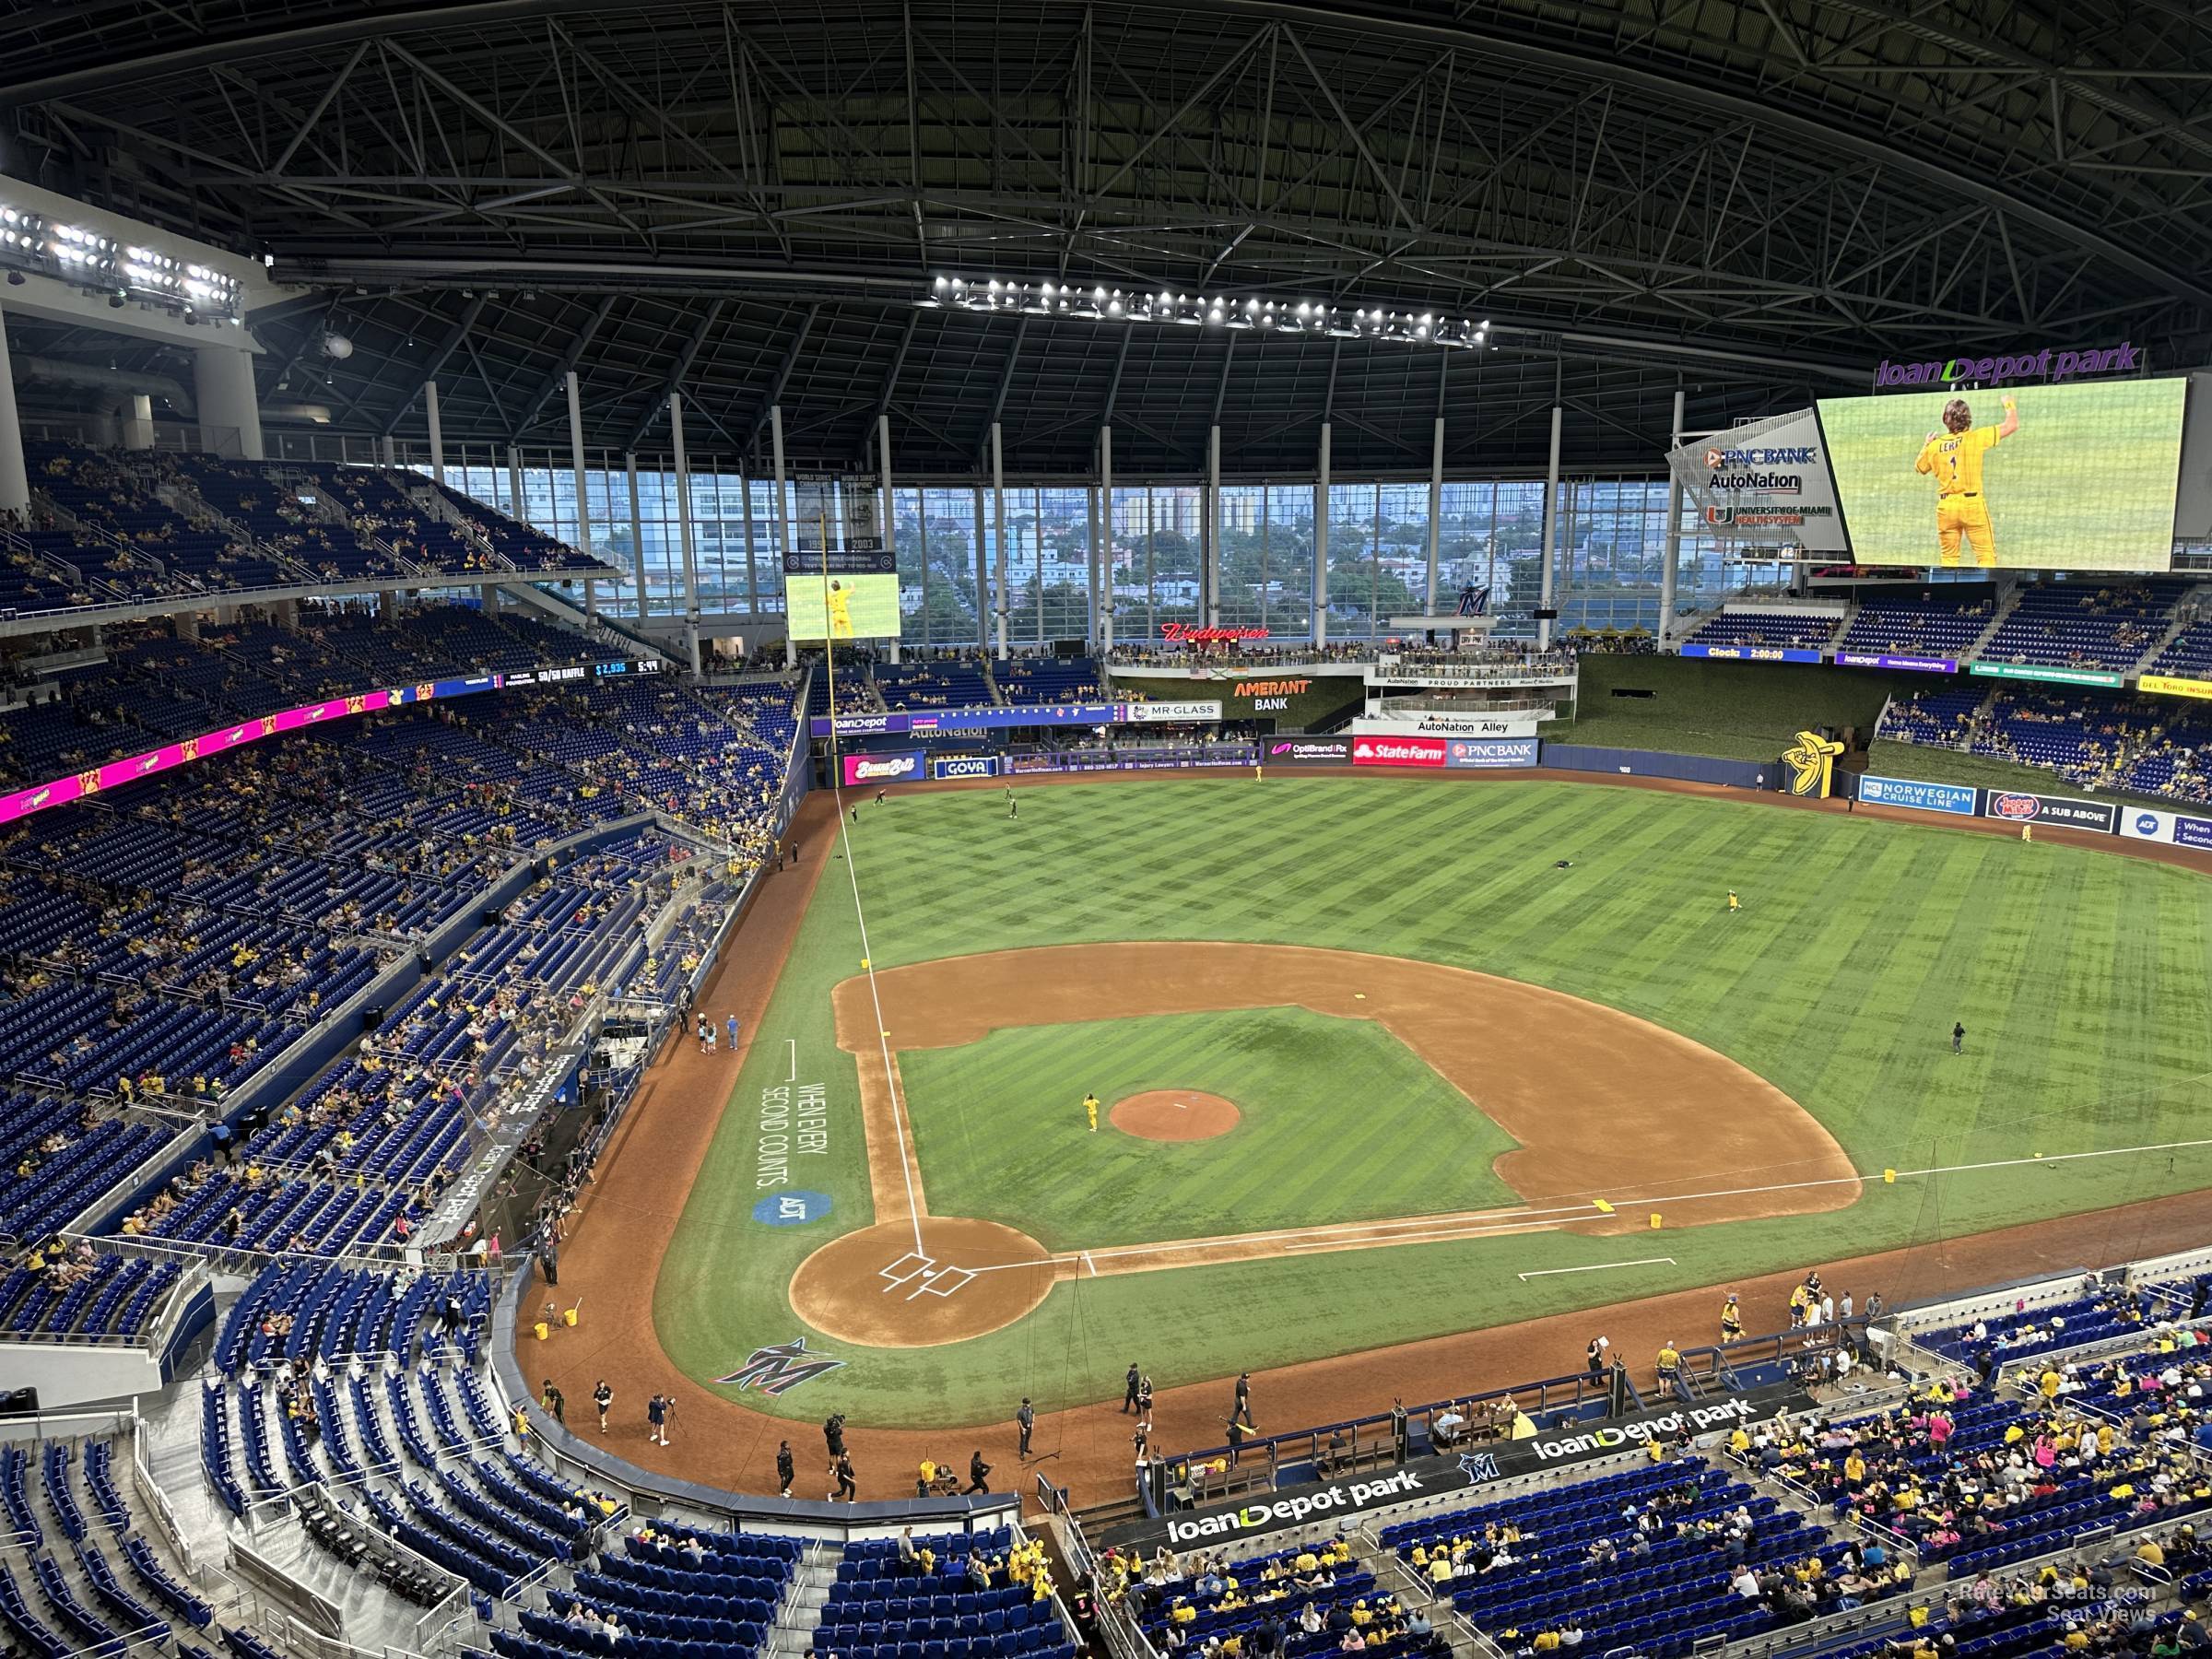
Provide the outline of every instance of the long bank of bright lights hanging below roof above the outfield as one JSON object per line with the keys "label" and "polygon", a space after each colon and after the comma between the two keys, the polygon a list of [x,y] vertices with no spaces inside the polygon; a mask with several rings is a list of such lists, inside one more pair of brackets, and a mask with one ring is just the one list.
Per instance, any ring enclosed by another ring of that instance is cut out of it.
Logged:
{"label": "long bank of bright lights hanging below roof above the outfield", "polygon": [[969,281],[938,276],[918,305],[1018,316],[1075,316],[1088,323],[1175,323],[1267,334],[1312,334],[1338,341],[1396,341],[1462,352],[1498,349],[1491,323],[1436,312],[1394,312],[1383,305],[1345,307],[1327,301],[1232,299],[1172,290],[1082,288],[1079,283],[1015,283],[998,276]]}

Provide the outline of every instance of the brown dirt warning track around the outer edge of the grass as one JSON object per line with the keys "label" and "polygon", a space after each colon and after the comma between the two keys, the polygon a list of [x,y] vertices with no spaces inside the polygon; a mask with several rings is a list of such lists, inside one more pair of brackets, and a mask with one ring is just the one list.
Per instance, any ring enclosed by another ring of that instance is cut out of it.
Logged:
{"label": "brown dirt warning track around the outer edge of the grass", "polygon": [[[1343,772],[1329,774],[1343,776]],[[1139,776],[1130,774],[1130,781],[1139,781]],[[1276,776],[1274,770],[1270,770],[1272,776]],[[1553,772],[1526,776],[1559,781]],[[1095,781],[1066,779],[1066,783]],[[1659,779],[1590,776],[1582,781],[1754,799],[1787,810],[1843,812],[1840,803],[1745,796],[1741,790],[1677,785]],[[1484,779],[1469,787],[1489,783]],[[989,787],[1002,785],[991,783]],[[1035,787],[1035,783],[1024,781],[1024,787]],[[1887,810],[1876,810],[1871,816],[1920,823],[1911,814]],[[1966,821],[1951,827],[2004,832],[2002,825]],[[836,841],[827,792],[807,796],[794,825],[794,838],[803,849],[803,863],[763,885],[739,938],[732,949],[726,949],[723,964],[701,998],[708,1006],[739,1013],[748,1044],[750,1033],[759,1029],[761,1011],[783,971],[814,883]],[[2212,858],[2205,854],[2157,843],[2079,832],[2051,832],[2051,838],[2212,869]],[[827,1489],[827,1482],[823,1489],[814,1486],[823,1464],[821,1436],[805,1422],[752,1411],[692,1380],[661,1352],[653,1325],[653,1281],[675,1234],[684,1199],[714,1137],[743,1053],[743,1044],[737,1053],[714,1055],[703,1055],[697,1044],[681,1040],[664,1046],[637,1102],[615,1133],[615,1141],[602,1157],[597,1179],[584,1188],[577,1212],[568,1221],[560,1292],[564,1301],[584,1303],[582,1325],[557,1332],[551,1343],[531,1340],[526,1334],[518,1336],[515,1356],[526,1378],[533,1383],[540,1376],[553,1378],[571,1400],[588,1398],[593,1383],[606,1378],[615,1391],[615,1411],[613,1429],[599,1444],[646,1471],[734,1491],[774,1491],[776,1442],[790,1438],[803,1471],[796,1495],[814,1498]],[[2212,1232],[2212,1190],[2201,1190],[1818,1265],[1829,1283],[1847,1285],[1860,1296],[1878,1290],[1891,1305],[1900,1305],[2011,1279],[2104,1267],[2159,1250],[2168,1239],[2208,1232]],[[1796,1274],[1765,1274],[1728,1285],[1619,1301],[1608,1307],[1261,1369],[1252,1374],[1254,1402],[1265,1427],[1290,1429],[1383,1411],[1389,1407],[1391,1394],[1409,1402],[1442,1400],[1502,1383],[1566,1376],[1582,1369],[1584,1343],[1599,1332],[1613,1338],[1615,1354],[1624,1356],[1632,1371],[1648,1376],[1650,1356],[1663,1340],[1692,1343],[1714,1332],[1723,1290],[1736,1290],[1743,1296],[1745,1323],[1752,1329],[1781,1329],[1787,1325],[1787,1294],[1794,1281]],[[657,1447],[646,1438],[644,1402],[650,1394],[668,1394],[679,1402],[670,1431],[675,1444],[670,1447]],[[1155,1444],[1168,1449],[1217,1444],[1225,1402],[1225,1380],[1164,1387],[1155,1400]],[[1073,1489],[1077,1504],[1104,1502],[1130,1491],[1128,1418],[1117,1413],[1115,1405],[1115,1400],[1104,1400],[1037,1416],[1035,1451],[1051,1462],[1035,1467],[1046,1469],[1055,1484]],[[942,1458],[958,1453],[960,1447],[982,1449],[984,1458],[998,1464],[993,1480],[1000,1489],[1026,1484],[1024,1467],[1015,1458],[1011,1420],[978,1429],[933,1431],[860,1425],[847,1427],[847,1440],[860,1471],[863,1498],[909,1495],[914,1467],[922,1455]]]}

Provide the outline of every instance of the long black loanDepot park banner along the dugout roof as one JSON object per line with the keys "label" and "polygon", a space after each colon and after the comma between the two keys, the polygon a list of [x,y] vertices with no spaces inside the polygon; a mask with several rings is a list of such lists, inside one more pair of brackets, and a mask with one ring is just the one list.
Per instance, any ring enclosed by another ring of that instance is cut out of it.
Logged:
{"label": "long black loanDepot park banner along the dugout roof", "polygon": [[1327,1480],[1248,1498],[1234,1504],[1186,1509],[1161,1520],[1130,1522],[1099,1533],[1102,1544],[1121,1548],[1190,1548],[1194,1544],[1241,1542],[1283,1533],[1292,1526],[1349,1526],[1356,1517],[1409,1498],[1467,1491],[1511,1475],[1573,1469],[1579,1462],[1635,1451],[1646,1440],[1672,1440],[1683,1429],[1694,1436],[1725,1433],[1763,1422],[1781,1411],[1812,1407],[1812,1396],[1794,1383],[1750,1389],[1725,1400],[1661,1405],[1626,1418],[1544,1429],[1526,1440],[1498,1440],[1464,1453],[1413,1458],[1396,1469],[1378,1469],[1356,1480]]}

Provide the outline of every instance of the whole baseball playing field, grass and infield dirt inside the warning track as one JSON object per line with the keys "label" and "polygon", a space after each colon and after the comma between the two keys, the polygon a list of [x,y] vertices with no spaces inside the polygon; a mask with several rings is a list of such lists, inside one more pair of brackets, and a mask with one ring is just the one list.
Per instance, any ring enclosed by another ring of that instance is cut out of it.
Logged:
{"label": "whole baseball playing field, grass and infield dirt inside the warning track", "polygon": [[1130,1360],[1166,1389],[2212,1186],[2192,869],[1418,776],[905,792],[812,847],[734,1086],[679,1106],[710,1139],[650,1290],[672,1367],[759,1413],[1004,1422]]}

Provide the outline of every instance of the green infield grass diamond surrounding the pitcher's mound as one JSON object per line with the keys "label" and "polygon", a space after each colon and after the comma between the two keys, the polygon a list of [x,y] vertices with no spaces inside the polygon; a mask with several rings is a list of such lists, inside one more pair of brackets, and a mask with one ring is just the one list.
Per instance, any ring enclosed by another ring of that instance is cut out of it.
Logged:
{"label": "green infield grass diamond surrounding the pitcher's mound", "polygon": [[[1517,1201],[1491,1172],[1513,1139],[1367,1020],[1248,1009],[1018,1026],[909,1048],[898,1071],[929,1208],[1053,1250]],[[1110,1108],[1152,1088],[1221,1095],[1241,1121],[1183,1144],[1084,1121],[1086,1091]]]}

